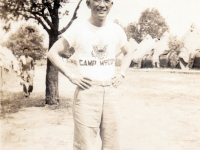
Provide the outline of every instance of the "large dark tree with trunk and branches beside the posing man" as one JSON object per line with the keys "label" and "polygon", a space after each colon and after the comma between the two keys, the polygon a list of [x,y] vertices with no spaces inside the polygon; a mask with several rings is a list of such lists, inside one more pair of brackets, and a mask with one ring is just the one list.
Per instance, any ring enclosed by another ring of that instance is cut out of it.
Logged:
{"label": "large dark tree with trunk and branches beside the posing man", "polygon": [[[49,49],[57,41],[58,36],[68,29],[77,18],[76,13],[79,3],[74,11],[70,22],[59,31],[59,19],[63,14],[59,10],[67,4],[68,0],[1,0],[0,18],[3,20],[33,19],[41,24],[49,35]],[[47,60],[46,73],[46,104],[57,104],[59,102],[58,93],[58,70]]]}

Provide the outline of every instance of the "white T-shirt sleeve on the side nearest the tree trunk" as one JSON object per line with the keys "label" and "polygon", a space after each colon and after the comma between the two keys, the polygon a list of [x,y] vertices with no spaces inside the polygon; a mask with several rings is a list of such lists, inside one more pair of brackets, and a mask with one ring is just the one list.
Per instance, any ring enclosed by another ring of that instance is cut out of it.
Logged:
{"label": "white T-shirt sleeve on the side nearest the tree trunk", "polygon": [[62,34],[62,37],[68,41],[70,47],[75,47],[76,45],[77,27],[78,25],[76,23],[72,23],[71,26]]}

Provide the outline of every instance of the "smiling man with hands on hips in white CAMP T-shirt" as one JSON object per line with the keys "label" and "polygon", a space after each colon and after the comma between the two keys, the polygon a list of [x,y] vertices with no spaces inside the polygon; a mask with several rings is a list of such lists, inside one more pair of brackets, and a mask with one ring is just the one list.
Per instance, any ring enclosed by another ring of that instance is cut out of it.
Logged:
{"label": "smiling man with hands on hips in white CAMP T-shirt", "polygon": [[[119,102],[115,98],[128,69],[132,50],[123,29],[106,20],[113,0],[86,0],[91,16],[73,23],[50,49],[49,60],[75,85],[74,150],[93,150],[100,129],[102,150],[119,150]],[[59,54],[74,47],[80,74],[70,72]],[[124,53],[115,74],[115,50]]]}

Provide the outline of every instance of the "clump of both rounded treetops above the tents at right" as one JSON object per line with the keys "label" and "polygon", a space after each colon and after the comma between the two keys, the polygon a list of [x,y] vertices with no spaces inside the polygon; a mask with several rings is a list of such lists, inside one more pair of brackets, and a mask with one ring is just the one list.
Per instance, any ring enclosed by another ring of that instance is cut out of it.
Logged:
{"label": "clump of both rounded treetops above the tents at right", "polygon": [[124,30],[128,39],[133,38],[140,43],[147,34],[160,39],[169,27],[158,10],[148,8],[141,13],[138,22],[129,23]]}

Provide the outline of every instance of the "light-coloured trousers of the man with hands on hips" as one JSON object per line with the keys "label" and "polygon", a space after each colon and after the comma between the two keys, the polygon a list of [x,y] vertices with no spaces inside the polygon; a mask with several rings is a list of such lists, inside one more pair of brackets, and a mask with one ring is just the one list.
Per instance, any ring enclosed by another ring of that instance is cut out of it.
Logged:
{"label": "light-coloured trousers of the man with hands on hips", "polygon": [[95,150],[100,129],[102,150],[119,150],[119,99],[112,86],[76,88],[73,103],[74,150]]}

